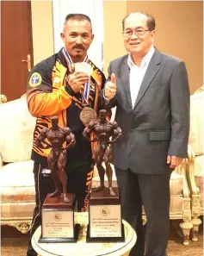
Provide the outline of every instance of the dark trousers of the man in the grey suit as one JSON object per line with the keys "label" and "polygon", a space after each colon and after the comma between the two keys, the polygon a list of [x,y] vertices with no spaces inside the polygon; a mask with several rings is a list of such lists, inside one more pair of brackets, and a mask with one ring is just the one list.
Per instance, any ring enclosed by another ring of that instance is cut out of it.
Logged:
{"label": "dark trousers of the man in the grey suit", "polygon": [[[170,174],[137,174],[115,167],[121,197],[122,217],[137,234],[130,256],[166,256],[170,229]],[[142,205],[147,217],[142,225]]]}

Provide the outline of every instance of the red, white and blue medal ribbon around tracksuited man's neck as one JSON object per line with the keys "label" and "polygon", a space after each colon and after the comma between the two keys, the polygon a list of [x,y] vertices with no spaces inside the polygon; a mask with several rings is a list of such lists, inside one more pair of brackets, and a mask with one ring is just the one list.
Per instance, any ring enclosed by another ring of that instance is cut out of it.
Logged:
{"label": "red, white and blue medal ribbon around tracksuited man's neck", "polygon": [[[67,66],[69,68],[69,71],[71,73],[71,66],[73,64],[72,60],[71,60],[71,56],[69,53],[67,53],[65,47],[62,49],[62,53],[65,57]],[[83,62],[87,62],[89,63],[89,59],[88,59],[88,55],[86,54],[85,58],[83,59]],[[83,100],[83,104],[89,104],[89,97],[90,97],[90,81],[84,84],[83,87],[83,93],[82,93],[82,100]]]}

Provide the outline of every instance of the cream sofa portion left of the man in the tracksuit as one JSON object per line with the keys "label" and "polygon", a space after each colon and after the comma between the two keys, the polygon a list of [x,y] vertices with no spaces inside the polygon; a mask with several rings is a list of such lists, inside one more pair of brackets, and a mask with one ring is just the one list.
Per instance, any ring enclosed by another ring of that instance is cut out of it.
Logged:
{"label": "cream sofa portion left of the man in the tracksuit", "polygon": [[0,103],[0,198],[1,225],[30,229],[34,202],[33,161],[30,160],[35,118],[26,98]]}

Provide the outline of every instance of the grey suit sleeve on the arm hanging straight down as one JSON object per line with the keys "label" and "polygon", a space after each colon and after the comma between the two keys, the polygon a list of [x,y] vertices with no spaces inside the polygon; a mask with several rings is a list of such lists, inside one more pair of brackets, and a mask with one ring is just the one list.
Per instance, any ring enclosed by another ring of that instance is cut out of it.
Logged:
{"label": "grey suit sleeve on the arm hanging straight down", "polygon": [[189,80],[186,67],[179,62],[170,81],[171,135],[168,154],[188,157]]}

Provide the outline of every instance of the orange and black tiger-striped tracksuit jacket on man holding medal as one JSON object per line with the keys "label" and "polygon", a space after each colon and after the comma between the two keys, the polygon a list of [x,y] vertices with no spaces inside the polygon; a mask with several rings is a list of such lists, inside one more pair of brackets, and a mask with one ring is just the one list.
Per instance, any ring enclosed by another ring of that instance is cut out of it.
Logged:
{"label": "orange and black tiger-striped tracksuit jacket on man holding medal", "polygon": [[[98,110],[99,93],[105,83],[104,74],[89,60],[90,66],[93,68],[90,81],[90,106]],[[69,84],[66,82],[67,76],[70,74],[65,58],[61,51],[54,54],[48,59],[43,60],[30,72],[28,80],[27,102],[28,109],[32,116],[36,116],[36,126],[34,129],[34,140],[40,134],[43,128],[51,127],[51,117],[59,117],[59,126],[71,128],[71,132],[76,135],[76,140],[81,142],[83,123],[80,121],[79,115],[82,106],[81,93],[75,94]],[[48,141],[45,142],[45,144]],[[90,143],[85,143],[90,144]],[[45,145],[46,146],[46,145]],[[77,148],[73,147],[71,159],[80,160],[76,153],[90,153],[90,147]],[[37,162],[45,161],[50,149],[41,149],[33,143],[32,159]],[[83,159],[82,159],[83,160]]]}

